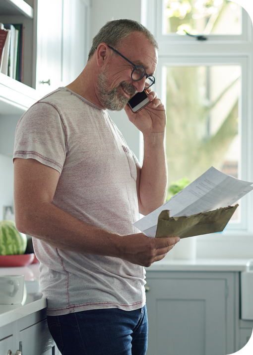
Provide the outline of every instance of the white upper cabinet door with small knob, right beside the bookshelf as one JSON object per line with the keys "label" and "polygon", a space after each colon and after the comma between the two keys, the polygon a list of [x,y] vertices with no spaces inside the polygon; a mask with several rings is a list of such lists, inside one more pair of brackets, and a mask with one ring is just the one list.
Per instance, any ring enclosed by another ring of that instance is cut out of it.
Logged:
{"label": "white upper cabinet door with small knob, right beside the bookshelf", "polygon": [[[62,72],[63,0],[38,0],[36,89],[41,95],[62,86]],[[49,80],[50,86],[42,84]]]}

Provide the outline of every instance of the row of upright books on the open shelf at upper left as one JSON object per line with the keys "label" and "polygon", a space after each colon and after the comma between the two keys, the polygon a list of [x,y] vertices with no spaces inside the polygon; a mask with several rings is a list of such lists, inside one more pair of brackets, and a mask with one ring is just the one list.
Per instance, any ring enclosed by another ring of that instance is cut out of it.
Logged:
{"label": "row of upright books on the open shelf at upper left", "polygon": [[0,23],[0,73],[23,83],[24,26]]}

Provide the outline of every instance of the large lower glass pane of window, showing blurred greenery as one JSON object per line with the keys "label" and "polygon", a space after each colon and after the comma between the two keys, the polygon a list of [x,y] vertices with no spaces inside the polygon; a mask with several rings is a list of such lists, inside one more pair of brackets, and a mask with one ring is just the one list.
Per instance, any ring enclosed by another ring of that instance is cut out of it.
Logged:
{"label": "large lower glass pane of window, showing blurred greenery", "polygon": [[211,166],[240,178],[241,67],[166,69],[167,199]]}

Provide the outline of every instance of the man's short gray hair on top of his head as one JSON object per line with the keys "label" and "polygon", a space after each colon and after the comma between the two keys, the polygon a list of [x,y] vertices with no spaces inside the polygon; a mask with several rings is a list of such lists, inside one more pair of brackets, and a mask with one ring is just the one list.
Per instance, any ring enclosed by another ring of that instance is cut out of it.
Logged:
{"label": "man's short gray hair on top of his head", "polygon": [[100,43],[106,43],[107,45],[116,49],[132,32],[144,33],[149,42],[156,49],[159,49],[154,35],[139,22],[128,19],[112,20],[108,21],[93,38],[88,60],[90,60],[90,58],[93,56],[96,51],[96,47],[98,47]]}

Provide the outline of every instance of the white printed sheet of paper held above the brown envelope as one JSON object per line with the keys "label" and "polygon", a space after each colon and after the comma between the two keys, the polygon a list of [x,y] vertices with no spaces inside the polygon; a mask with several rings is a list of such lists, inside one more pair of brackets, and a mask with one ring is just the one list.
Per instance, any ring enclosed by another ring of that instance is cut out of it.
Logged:
{"label": "white printed sheet of paper held above the brown envelope", "polygon": [[251,185],[252,182],[227,176],[211,167],[164,205],[133,225],[148,237],[155,237],[158,216],[162,211],[170,210],[171,217],[180,217],[231,206],[253,189]]}

